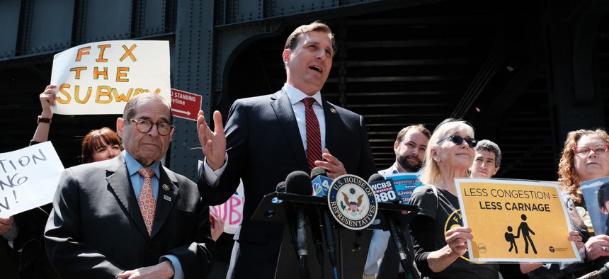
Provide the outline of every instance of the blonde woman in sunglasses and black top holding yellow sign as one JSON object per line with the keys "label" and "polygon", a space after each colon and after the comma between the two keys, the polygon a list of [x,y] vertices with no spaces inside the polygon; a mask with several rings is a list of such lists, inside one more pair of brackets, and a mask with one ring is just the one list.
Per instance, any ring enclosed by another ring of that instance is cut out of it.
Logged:
{"label": "blonde woman in sunglasses and black top holding yellow sign", "polygon": [[[414,261],[425,278],[504,278],[527,273],[541,264],[470,264],[467,239],[472,229],[462,227],[455,178],[468,177],[474,161],[474,129],[461,120],[440,123],[429,139],[421,186],[410,203],[420,211],[409,224],[414,244]],[[579,238],[579,237],[574,237]]]}

